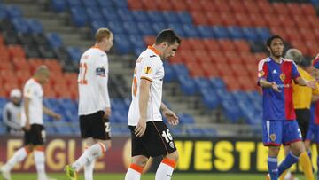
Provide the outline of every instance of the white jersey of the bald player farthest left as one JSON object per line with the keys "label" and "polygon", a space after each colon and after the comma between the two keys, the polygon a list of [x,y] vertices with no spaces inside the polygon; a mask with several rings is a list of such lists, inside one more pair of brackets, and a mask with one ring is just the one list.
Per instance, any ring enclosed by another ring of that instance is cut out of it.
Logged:
{"label": "white jersey of the bald player farthest left", "polygon": [[[24,98],[29,98],[28,115],[29,124],[43,125],[43,88],[39,82],[31,78],[23,88]],[[21,127],[26,125],[27,117],[24,106],[21,112]]]}

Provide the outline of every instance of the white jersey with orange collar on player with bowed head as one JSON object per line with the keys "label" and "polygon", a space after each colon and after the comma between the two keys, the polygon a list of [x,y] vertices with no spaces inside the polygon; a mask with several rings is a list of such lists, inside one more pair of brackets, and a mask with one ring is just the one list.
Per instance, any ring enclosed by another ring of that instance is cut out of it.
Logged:
{"label": "white jersey with orange collar on player with bowed head", "polygon": [[128,126],[136,126],[137,121],[140,118],[138,100],[141,79],[152,82],[150,98],[147,105],[146,121],[162,121],[159,109],[162,102],[163,78],[164,67],[163,62],[159,57],[159,52],[152,46],[149,46],[136,60],[132,84],[132,102],[128,111]]}

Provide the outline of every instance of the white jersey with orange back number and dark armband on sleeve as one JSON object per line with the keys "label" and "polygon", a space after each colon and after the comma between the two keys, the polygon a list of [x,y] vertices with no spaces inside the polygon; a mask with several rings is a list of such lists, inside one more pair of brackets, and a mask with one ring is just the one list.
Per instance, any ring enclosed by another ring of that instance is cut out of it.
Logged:
{"label": "white jersey with orange back number and dark armband on sleeve", "polygon": [[93,46],[82,54],[78,75],[79,115],[105,111],[110,107],[107,89],[108,59],[105,51]]}

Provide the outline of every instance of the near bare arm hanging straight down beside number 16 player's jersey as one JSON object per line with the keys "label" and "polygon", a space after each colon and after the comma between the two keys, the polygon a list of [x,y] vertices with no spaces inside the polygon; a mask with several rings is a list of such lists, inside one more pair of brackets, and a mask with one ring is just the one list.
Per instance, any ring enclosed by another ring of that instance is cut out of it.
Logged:
{"label": "near bare arm hanging straight down beside number 16 player's jersey", "polygon": [[140,95],[138,99],[140,119],[137,122],[135,133],[137,137],[142,137],[146,130],[147,103],[150,98],[151,82],[141,79],[139,86]]}

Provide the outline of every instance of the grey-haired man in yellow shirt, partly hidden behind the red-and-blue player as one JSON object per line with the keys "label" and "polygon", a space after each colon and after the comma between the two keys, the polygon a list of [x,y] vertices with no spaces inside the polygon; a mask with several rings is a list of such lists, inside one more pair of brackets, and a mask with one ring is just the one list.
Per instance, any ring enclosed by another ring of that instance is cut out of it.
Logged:
{"label": "grey-haired man in yellow shirt, partly hidden behind the red-and-blue player", "polygon": [[[315,82],[315,78],[308,74],[307,71],[301,66],[302,64],[302,54],[297,49],[290,49],[286,52],[284,57],[285,59],[292,59],[296,65],[297,70],[300,73],[300,77],[307,81]],[[309,121],[310,121],[310,106],[311,106],[311,99],[312,95],[319,95],[319,88],[312,90],[307,86],[300,86],[296,83],[292,83],[292,100],[293,100],[293,107],[296,113],[297,122],[301,131],[302,139],[305,140],[307,135],[307,131],[309,128]],[[304,174],[306,179],[314,180],[314,175],[312,171],[311,160],[308,156],[310,154],[310,145],[303,144],[303,149],[307,151],[303,151],[300,154],[300,164],[304,170]],[[289,153],[290,148],[288,145],[284,146],[285,154]],[[280,176],[280,179],[290,179],[292,177],[291,172],[287,169],[287,175],[284,178],[284,174]]]}

